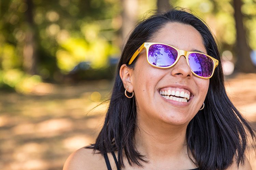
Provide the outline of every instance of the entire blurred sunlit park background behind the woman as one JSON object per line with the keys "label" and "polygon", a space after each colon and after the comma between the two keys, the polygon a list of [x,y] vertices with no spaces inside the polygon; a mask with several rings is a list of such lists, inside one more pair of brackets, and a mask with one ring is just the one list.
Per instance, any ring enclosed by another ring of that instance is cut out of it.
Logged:
{"label": "entire blurred sunlit park background behind the woman", "polygon": [[1,0],[0,169],[62,169],[92,143],[130,31],[175,6],[208,23],[228,95],[256,127],[256,0]]}

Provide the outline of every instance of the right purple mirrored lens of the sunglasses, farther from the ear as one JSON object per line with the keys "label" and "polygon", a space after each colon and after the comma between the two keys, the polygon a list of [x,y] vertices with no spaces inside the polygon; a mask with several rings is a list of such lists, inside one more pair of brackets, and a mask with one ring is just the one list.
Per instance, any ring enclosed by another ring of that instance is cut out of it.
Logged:
{"label": "right purple mirrored lens of the sunglasses, farther from the ear", "polygon": [[201,77],[210,77],[213,72],[213,61],[210,57],[200,54],[191,53],[188,55],[188,62],[191,70]]}

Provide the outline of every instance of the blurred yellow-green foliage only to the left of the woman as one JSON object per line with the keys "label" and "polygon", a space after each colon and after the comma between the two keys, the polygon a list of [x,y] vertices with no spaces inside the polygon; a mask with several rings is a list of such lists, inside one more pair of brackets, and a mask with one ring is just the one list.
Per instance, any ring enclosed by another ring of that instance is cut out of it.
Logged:
{"label": "blurred yellow-green foliage only to the left of the woman", "polygon": [[[0,87],[20,91],[23,82],[55,81],[80,62],[91,68],[108,67],[108,57],[119,54],[115,41],[120,29],[117,0],[0,1]],[[31,7],[33,25],[26,15]],[[24,69],[26,33],[33,32],[37,74]],[[41,77],[41,78],[40,78]],[[29,79],[29,80],[28,80]]]}

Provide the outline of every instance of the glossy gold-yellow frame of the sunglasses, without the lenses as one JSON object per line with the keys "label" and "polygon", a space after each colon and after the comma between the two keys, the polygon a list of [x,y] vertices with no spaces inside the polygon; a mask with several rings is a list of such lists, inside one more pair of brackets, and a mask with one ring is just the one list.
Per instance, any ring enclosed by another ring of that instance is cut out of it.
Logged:
{"label": "glossy gold-yellow frame of the sunglasses, without the lenses", "polygon": [[[172,65],[170,65],[170,66],[168,66],[168,67],[156,66],[156,65],[151,64],[151,63],[149,62],[149,60],[148,60],[148,49],[150,48],[150,46],[155,45],[155,44],[166,45],[166,46],[169,46],[169,47],[174,48],[174,49],[178,52],[178,56],[177,56],[176,61],[175,61]],[[134,59],[143,51],[143,49],[146,49],[146,57],[147,57],[147,62],[148,62],[148,64],[150,64],[151,66],[156,67],[156,68],[162,68],[162,69],[171,68],[172,66],[174,66],[174,65],[180,60],[180,57],[181,57],[181,56],[184,56],[184,57],[186,58],[186,60],[187,60],[187,64],[188,64],[188,66],[189,66],[191,72],[192,72],[196,77],[199,77],[199,78],[202,78],[202,79],[210,79],[210,78],[213,76],[213,73],[214,73],[214,71],[215,71],[215,68],[216,68],[216,67],[218,66],[218,64],[219,64],[219,61],[218,61],[217,59],[213,58],[213,57],[210,56],[210,55],[201,53],[201,52],[180,50],[180,49],[177,49],[177,48],[175,48],[175,47],[173,47],[173,46],[170,46],[170,45],[168,45],[168,44],[163,44],[163,43],[148,43],[148,42],[145,42],[145,43],[143,43],[143,44],[140,46],[140,48],[138,48],[138,50],[136,50],[136,52],[134,52],[134,54],[132,55],[132,57],[131,57],[131,59],[130,59],[128,65],[130,65],[130,64],[134,61]],[[211,58],[211,60],[213,61],[213,71],[212,71],[212,75],[211,75],[210,77],[207,77],[207,78],[206,78],[206,77],[202,77],[202,76],[199,76],[199,75],[197,75],[196,73],[194,73],[194,71],[191,69],[191,67],[190,67],[190,65],[189,65],[189,62],[188,62],[188,55],[191,54],[191,53],[203,54],[203,55],[206,55],[206,56],[208,56],[209,58]]]}

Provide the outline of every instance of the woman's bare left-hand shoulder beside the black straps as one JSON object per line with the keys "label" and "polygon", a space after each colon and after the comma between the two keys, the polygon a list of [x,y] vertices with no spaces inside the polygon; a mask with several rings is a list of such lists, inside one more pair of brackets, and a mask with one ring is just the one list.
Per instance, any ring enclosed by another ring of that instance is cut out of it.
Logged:
{"label": "woman's bare left-hand shoulder beside the black straps", "polygon": [[66,160],[63,170],[104,169],[104,157],[93,149],[81,148],[73,152]]}

